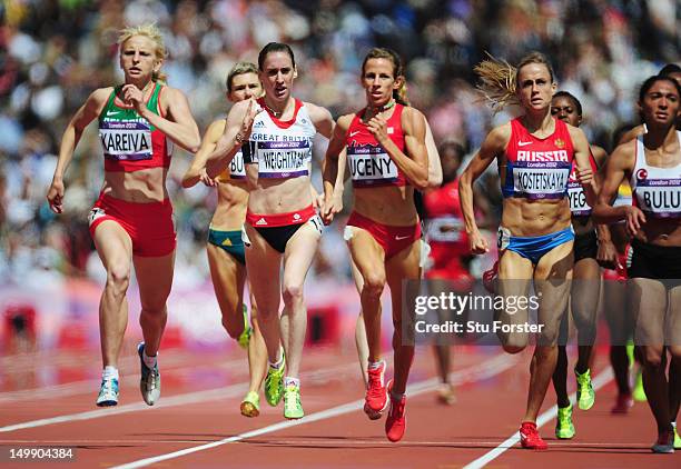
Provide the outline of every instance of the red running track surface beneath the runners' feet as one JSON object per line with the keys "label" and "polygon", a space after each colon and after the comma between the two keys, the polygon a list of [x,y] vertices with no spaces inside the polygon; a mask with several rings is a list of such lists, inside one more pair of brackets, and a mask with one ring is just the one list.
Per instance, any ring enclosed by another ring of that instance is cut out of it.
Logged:
{"label": "red running track surface beneath the runners' feet", "polygon": [[[457,402],[446,407],[435,399],[432,351],[418,348],[408,389],[407,432],[397,445],[385,438],[384,419],[369,421],[361,410],[363,386],[354,350],[306,351],[302,377],[306,418],[299,421],[284,420],[282,407],[270,408],[264,398],[260,417],[239,415],[247,381],[239,350],[162,351],[162,397],[158,406],[147,407],[138,390],[138,361],[128,347],[120,366],[120,402],[108,409],[95,406],[99,356],[89,355],[93,363],[85,368],[83,352],[0,357],[0,465],[10,462],[10,448],[30,447],[73,448],[76,461],[63,466],[72,468],[457,468],[474,461],[477,466],[471,467],[552,469],[681,465],[678,453],[650,452],[655,429],[645,403],[636,403],[628,416],[610,415],[615,389],[604,353],[599,355],[593,373],[603,387],[591,410],[575,410],[578,435],[571,441],[553,437],[554,395],[549,392],[542,410],[546,423],[540,431],[550,449],[543,452],[506,441],[524,410],[529,352],[507,356],[493,347],[455,348]],[[48,387],[49,381],[55,383]]]}

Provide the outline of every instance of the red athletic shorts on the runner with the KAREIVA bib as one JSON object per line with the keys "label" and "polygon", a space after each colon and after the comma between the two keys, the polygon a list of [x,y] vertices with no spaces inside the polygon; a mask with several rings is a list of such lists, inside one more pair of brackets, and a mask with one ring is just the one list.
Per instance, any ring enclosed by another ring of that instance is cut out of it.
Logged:
{"label": "red athletic shorts on the runner with the KAREIVA bib", "polygon": [[161,257],[175,250],[176,233],[170,199],[137,203],[100,194],[88,219],[92,239],[102,221],[112,220],[120,224],[132,240],[135,256]]}

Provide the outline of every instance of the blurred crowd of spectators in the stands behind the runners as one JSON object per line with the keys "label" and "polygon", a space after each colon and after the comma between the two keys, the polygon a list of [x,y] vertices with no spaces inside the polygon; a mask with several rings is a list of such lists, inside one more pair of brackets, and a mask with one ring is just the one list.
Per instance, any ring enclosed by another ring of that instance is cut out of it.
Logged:
{"label": "blurred crowd of spectators in the stands behind the runners", "polygon": [[[455,140],[470,152],[513,113],[493,116],[478,100],[473,67],[485,52],[511,63],[545,52],[559,88],[581,99],[590,141],[611,149],[612,131],[636,120],[639,83],[681,50],[677,0],[6,0],[0,18],[0,285],[103,276],[87,229],[103,174],[95,126],[67,172],[65,213],[51,213],[45,196],[68,119],[93,89],[122,79],[116,40],[124,26],[161,28],[168,82],[188,94],[201,131],[227,110],[227,71],[256,61],[269,41],[294,48],[294,96],[335,117],[364,106],[362,59],[387,46],[405,59],[408,97],[436,141]],[[216,202],[211,189],[179,188],[190,158],[176,149],[168,179],[176,285],[207,278],[203,251]],[[486,193],[497,204],[494,191]],[[349,278],[339,227],[327,229],[317,280]]]}

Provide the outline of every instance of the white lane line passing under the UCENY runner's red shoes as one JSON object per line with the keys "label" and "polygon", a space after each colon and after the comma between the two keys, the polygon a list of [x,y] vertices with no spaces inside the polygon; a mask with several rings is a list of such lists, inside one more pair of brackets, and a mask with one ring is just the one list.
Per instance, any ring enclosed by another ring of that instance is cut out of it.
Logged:
{"label": "white lane line passing under the UCENY runner's red shoes", "polygon": [[[503,372],[511,368],[519,360],[513,356],[501,355],[492,358],[482,363],[477,363],[470,368],[465,368],[461,371],[452,373],[452,383],[461,385],[464,382],[480,381],[486,378],[491,378],[495,375]],[[425,381],[415,382],[408,387],[408,396],[414,397],[425,392],[434,391],[440,386],[438,378],[431,378]],[[145,458],[137,461],[128,462],[121,466],[115,466],[112,469],[134,469],[141,468],[156,462],[166,461],[168,459],[180,458],[182,456],[191,455],[198,451],[205,451],[207,449],[217,448],[223,445],[241,441],[248,438],[259,437],[260,435],[272,433],[275,431],[284,430],[287,428],[296,427],[299,425],[312,423],[319,420],[326,420],[334,417],[342,416],[344,413],[355,412],[364,406],[364,399],[355,400],[353,402],[344,403],[342,406],[333,407],[330,409],[322,410],[318,412],[310,413],[300,420],[288,420],[279,423],[270,425],[267,427],[258,428],[245,433],[236,435],[234,437],[225,438],[223,440],[213,441],[210,443],[200,445],[191,448],[181,449],[179,451],[169,452],[166,455],[159,455],[151,458]]]}

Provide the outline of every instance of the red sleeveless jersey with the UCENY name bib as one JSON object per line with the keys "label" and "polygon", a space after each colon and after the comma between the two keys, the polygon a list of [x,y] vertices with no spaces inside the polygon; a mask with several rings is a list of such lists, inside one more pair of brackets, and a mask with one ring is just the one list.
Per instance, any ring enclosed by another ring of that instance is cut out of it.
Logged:
{"label": "red sleeveless jersey with the UCENY name bib", "polygon": [[[402,152],[405,151],[403,111],[404,106],[395,103],[393,116],[387,120],[388,137]],[[362,121],[365,112],[366,108],[355,114],[345,138],[353,187],[406,186],[404,173]]]}

